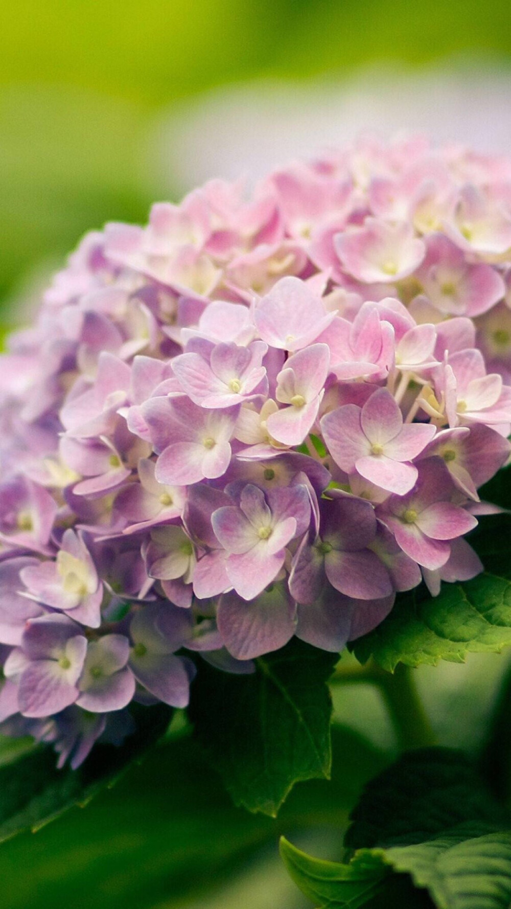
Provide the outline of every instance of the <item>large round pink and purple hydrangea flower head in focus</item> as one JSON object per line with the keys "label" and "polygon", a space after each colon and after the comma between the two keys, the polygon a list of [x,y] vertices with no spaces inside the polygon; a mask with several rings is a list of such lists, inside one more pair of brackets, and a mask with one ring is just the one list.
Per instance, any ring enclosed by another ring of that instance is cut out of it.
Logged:
{"label": "large round pink and purple hydrangea flower head in focus", "polygon": [[511,162],[369,139],[85,236],[0,365],[3,731],[77,765],[464,539],[511,427]]}

